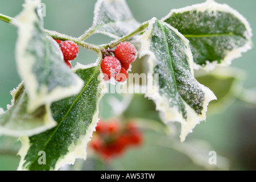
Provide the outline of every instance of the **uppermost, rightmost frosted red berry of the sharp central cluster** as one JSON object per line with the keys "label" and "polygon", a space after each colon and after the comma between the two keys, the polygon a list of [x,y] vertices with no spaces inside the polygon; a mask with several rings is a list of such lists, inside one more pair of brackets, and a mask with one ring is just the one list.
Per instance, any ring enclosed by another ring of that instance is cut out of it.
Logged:
{"label": "uppermost, rightmost frosted red berry of the sharp central cluster", "polygon": [[114,54],[121,63],[130,64],[135,60],[137,49],[133,44],[123,42],[117,45]]}

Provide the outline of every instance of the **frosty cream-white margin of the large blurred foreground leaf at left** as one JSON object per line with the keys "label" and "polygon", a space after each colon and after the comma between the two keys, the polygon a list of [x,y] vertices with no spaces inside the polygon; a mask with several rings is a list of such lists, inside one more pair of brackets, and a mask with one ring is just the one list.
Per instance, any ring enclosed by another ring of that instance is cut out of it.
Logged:
{"label": "frosty cream-white margin of the large blurred foreground leaf at left", "polygon": [[[24,4],[24,9],[13,20],[13,24],[18,26],[19,34],[16,42],[16,64],[18,68],[18,73],[22,78],[24,85],[26,85],[27,93],[29,96],[27,107],[29,113],[35,111],[40,105],[51,104],[54,101],[61,100],[62,98],[78,93],[84,85],[84,82],[77,75],[73,75],[76,84],[71,85],[68,88],[57,86],[50,93],[46,94],[46,90],[48,88],[46,88],[46,86],[42,86],[39,92],[35,91],[38,90],[38,82],[36,81],[35,76],[31,73],[32,64],[25,65],[24,62],[22,61],[22,57],[26,45],[29,44],[28,41],[30,40],[29,38],[31,37],[30,31],[32,30],[32,28],[34,28],[33,23],[38,20],[38,15],[35,13],[35,9],[38,7],[40,2],[40,0],[26,0]],[[26,18],[26,20],[24,19],[24,17]],[[53,44],[56,44],[57,47],[57,43],[55,42],[55,40],[53,40],[46,33],[45,35],[46,38]],[[34,63],[35,59],[32,59],[32,57],[29,58],[30,59],[27,59],[27,61],[30,61],[30,63]]]}

